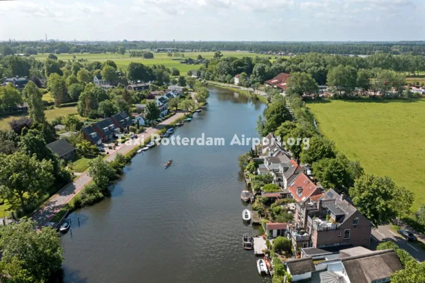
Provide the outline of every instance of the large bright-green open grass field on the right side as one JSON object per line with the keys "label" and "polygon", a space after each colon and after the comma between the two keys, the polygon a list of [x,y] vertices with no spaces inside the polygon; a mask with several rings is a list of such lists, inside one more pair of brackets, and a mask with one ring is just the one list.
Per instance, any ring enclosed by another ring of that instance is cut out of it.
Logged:
{"label": "large bright-green open grass field on the right side", "polygon": [[388,176],[425,203],[425,100],[324,101],[307,105],[319,130],[368,174]]}

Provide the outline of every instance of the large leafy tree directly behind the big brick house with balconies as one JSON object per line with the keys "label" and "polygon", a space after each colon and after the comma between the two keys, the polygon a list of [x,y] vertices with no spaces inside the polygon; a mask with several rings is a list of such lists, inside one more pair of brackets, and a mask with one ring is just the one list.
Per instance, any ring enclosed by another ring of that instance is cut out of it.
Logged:
{"label": "large leafy tree directly behind the big brick house with balconies", "polygon": [[395,191],[395,184],[390,178],[365,174],[355,180],[349,192],[355,207],[378,227],[395,214],[391,207]]}

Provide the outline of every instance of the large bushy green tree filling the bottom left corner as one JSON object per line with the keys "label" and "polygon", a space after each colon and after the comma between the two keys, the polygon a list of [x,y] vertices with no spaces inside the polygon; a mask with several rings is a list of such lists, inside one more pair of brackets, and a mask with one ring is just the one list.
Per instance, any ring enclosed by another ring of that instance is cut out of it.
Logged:
{"label": "large bushy green tree filling the bottom left corner", "polygon": [[19,224],[7,225],[1,231],[0,263],[1,282],[48,282],[61,269],[63,249],[56,231],[22,220]]}

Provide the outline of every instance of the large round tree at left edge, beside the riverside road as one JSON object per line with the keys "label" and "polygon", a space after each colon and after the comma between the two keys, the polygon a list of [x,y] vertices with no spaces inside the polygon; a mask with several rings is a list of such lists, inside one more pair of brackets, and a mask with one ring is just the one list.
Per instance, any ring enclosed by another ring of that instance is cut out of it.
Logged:
{"label": "large round tree at left edge, beside the riverside road", "polygon": [[53,184],[52,161],[37,160],[17,151],[12,155],[0,155],[0,192],[14,209],[25,209]]}

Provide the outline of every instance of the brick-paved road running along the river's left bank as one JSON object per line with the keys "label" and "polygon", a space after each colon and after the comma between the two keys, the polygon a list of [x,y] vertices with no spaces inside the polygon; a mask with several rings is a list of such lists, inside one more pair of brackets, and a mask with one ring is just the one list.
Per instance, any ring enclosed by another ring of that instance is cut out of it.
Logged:
{"label": "brick-paved road running along the river's left bank", "polygon": [[[146,129],[145,133],[138,135],[138,141],[141,141],[142,138],[148,138],[152,134],[155,134],[160,129],[165,127],[165,125],[169,125],[170,123],[174,122],[178,118],[184,116],[185,113],[177,113],[176,115],[172,116],[171,118],[168,118],[167,120],[163,121],[162,123],[158,124],[156,127],[152,128],[149,127]],[[134,149],[134,147],[138,146],[136,143],[132,145],[121,145],[116,149],[116,151],[113,154],[110,154],[110,156],[107,156],[107,161],[114,160],[116,153],[119,152],[121,154],[126,154],[128,151]],[[81,191],[81,189],[84,188],[85,185],[87,185],[88,182],[92,180],[92,177],[87,175],[87,172],[84,172],[80,174],[78,178],[76,178],[73,182],[70,182],[68,185],[65,185],[62,189],[60,189],[54,196],[52,196],[43,207],[41,207],[39,210],[37,210],[33,216],[32,219],[36,221],[39,224],[39,227],[42,227],[47,222],[49,222],[53,216],[58,213],[61,208],[66,205],[74,196]]]}

